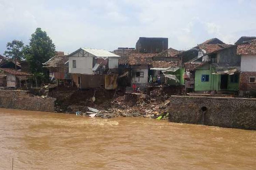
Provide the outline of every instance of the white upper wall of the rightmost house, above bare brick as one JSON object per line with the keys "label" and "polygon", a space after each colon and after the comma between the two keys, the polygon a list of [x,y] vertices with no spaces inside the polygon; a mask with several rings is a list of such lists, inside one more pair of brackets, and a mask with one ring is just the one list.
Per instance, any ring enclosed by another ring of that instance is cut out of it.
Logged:
{"label": "white upper wall of the rightmost house, above bare brick", "polygon": [[256,55],[241,56],[241,71],[256,71]]}

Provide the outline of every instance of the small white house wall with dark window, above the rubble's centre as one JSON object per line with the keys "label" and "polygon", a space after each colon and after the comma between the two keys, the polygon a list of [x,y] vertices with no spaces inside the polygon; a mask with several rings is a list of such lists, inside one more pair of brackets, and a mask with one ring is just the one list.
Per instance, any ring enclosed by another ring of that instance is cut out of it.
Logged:
{"label": "small white house wall with dark window, above the rubble's centre", "polygon": [[[143,77],[136,76],[136,72],[143,72]],[[148,66],[132,66],[131,84],[147,84]]]}

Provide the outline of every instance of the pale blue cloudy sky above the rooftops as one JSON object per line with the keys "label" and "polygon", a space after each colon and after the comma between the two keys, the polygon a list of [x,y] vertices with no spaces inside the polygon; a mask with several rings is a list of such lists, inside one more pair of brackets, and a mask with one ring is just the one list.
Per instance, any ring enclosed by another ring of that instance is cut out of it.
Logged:
{"label": "pale blue cloudy sky above the rooftops", "polygon": [[0,54],[13,39],[28,44],[37,27],[67,53],[135,47],[140,36],[168,37],[180,50],[256,36],[255,0],[0,0],[0,11]]}

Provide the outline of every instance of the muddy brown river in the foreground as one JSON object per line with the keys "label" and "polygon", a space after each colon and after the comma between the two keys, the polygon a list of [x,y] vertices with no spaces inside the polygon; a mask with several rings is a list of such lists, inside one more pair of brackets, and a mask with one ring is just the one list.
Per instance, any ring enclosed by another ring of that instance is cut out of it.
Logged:
{"label": "muddy brown river in the foreground", "polygon": [[256,169],[256,131],[0,108],[0,169]]}

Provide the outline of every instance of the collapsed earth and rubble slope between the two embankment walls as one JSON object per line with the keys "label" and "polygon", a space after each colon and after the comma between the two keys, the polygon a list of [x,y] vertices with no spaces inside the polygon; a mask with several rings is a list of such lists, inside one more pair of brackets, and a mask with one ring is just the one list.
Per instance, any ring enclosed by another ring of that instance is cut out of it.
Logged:
{"label": "collapsed earth and rubble slope between the two embankment walls", "polygon": [[[49,91],[56,98],[56,112],[93,115],[100,118],[145,117],[157,118],[168,114],[167,94],[163,88],[154,88],[146,92],[116,92],[104,89],[65,89],[55,87]],[[95,97],[95,101],[92,98]],[[91,112],[96,109],[99,112]]]}

